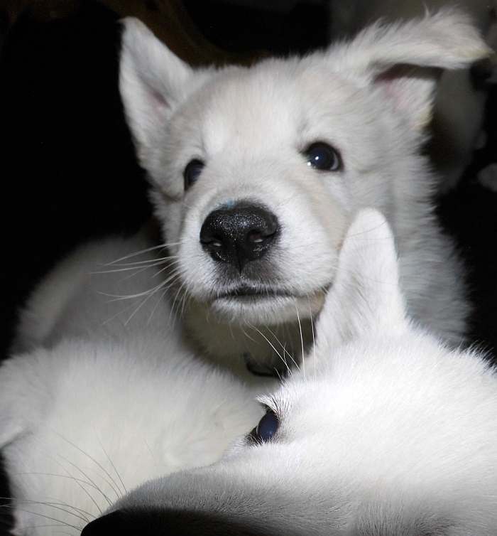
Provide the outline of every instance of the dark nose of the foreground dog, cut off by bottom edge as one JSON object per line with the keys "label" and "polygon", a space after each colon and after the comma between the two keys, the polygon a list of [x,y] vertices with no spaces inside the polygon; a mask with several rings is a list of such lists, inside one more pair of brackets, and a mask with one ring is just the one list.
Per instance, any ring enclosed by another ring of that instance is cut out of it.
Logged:
{"label": "dark nose of the foreground dog, cut off by bottom edge", "polygon": [[81,536],[271,536],[231,515],[183,510],[116,510],[84,527]]}

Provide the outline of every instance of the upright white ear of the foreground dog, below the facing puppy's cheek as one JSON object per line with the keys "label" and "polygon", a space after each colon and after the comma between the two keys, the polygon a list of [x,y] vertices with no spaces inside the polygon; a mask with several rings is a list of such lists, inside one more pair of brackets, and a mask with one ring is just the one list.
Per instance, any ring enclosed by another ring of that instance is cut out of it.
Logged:
{"label": "upright white ear of the foreground dog, below the facing puppy's cheek", "polygon": [[337,276],[316,323],[317,349],[407,326],[391,229],[377,210],[362,210],[346,233]]}

